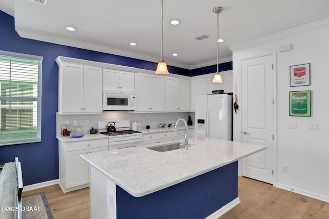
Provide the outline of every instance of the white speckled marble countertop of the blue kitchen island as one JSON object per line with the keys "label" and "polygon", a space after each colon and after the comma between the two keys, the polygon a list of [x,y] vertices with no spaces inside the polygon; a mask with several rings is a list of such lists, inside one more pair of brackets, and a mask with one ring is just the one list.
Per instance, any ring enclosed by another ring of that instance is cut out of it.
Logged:
{"label": "white speckled marble countertop of the blue kitchen island", "polygon": [[189,138],[191,146],[188,150],[157,152],[147,148],[153,145],[83,154],[81,157],[116,185],[135,197],[141,197],[266,149],[261,145],[205,137]]}

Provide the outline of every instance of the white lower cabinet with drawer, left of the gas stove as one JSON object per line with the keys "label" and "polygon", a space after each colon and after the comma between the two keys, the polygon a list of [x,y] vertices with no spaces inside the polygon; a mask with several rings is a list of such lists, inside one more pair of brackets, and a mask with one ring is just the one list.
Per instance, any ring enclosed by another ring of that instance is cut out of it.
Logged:
{"label": "white lower cabinet with drawer, left of the gas stove", "polygon": [[89,166],[81,154],[108,150],[108,140],[59,141],[59,181],[63,192],[89,186]]}

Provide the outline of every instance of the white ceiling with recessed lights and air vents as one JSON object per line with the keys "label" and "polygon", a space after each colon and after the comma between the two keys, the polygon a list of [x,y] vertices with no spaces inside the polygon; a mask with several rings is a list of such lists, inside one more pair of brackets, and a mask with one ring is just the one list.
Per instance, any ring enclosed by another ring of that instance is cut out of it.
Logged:
{"label": "white ceiling with recessed lights and air vents", "polygon": [[[223,62],[232,55],[228,46],[329,17],[328,0],[163,0],[163,58],[169,65],[191,69],[216,63],[216,6],[224,7]],[[1,0],[0,10],[15,17],[15,30],[22,37],[152,62],[160,59],[160,0],[48,0],[47,5]],[[173,26],[172,19],[181,23]],[[67,26],[77,31],[69,32]],[[210,37],[195,39],[202,34]]]}

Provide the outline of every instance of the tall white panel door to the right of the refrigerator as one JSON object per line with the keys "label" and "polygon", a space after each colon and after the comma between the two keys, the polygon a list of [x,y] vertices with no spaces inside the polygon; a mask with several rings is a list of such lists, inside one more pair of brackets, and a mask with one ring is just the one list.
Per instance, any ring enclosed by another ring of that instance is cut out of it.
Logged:
{"label": "tall white panel door to the right of the refrigerator", "polygon": [[242,141],[266,150],[242,161],[242,175],[273,184],[272,55],[242,61]]}

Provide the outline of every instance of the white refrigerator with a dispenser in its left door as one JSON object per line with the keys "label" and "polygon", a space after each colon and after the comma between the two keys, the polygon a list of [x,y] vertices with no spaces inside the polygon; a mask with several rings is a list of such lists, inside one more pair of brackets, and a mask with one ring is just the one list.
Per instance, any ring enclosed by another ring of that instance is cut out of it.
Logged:
{"label": "white refrigerator with a dispenser in its left door", "polygon": [[195,96],[196,136],[233,140],[233,96],[209,94]]}

